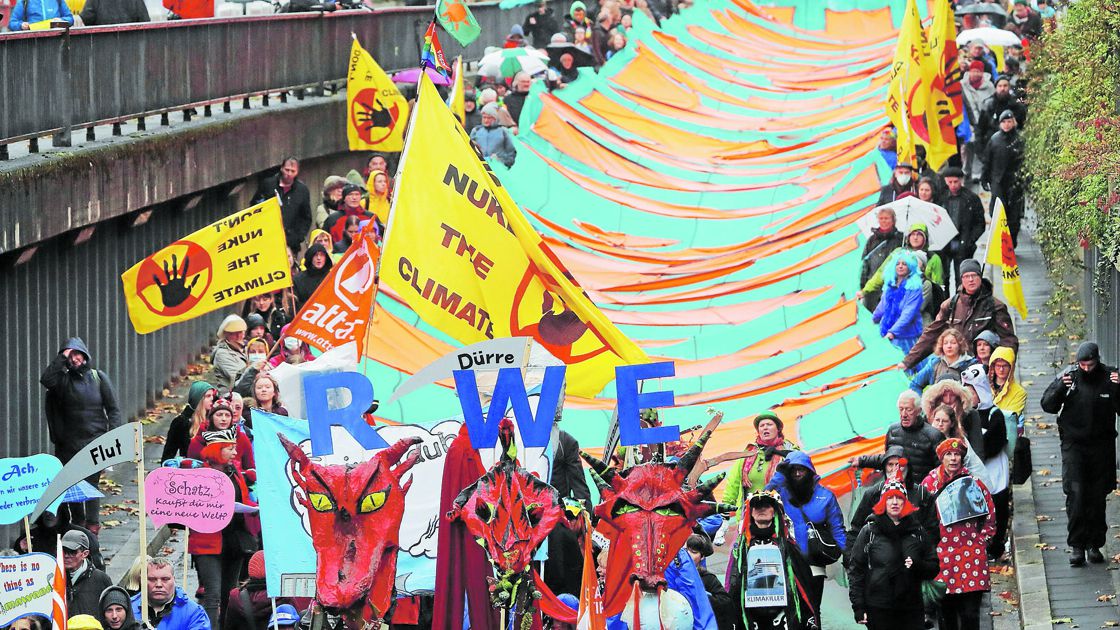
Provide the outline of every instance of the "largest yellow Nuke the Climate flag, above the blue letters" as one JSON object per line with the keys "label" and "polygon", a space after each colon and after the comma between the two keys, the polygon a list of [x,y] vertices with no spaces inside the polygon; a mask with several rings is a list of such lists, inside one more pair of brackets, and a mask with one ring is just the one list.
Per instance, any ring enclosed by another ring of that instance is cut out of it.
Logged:
{"label": "largest yellow Nuke the Climate flag, above the blue letters", "polygon": [[424,75],[416,110],[382,281],[460,343],[532,336],[568,364],[576,396],[596,396],[616,365],[648,362],[544,244]]}

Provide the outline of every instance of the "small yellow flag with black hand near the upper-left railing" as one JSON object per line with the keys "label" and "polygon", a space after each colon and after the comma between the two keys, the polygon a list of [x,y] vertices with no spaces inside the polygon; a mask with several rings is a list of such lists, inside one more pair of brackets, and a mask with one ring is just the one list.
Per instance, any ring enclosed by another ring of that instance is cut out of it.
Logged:
{"label": "small yellow flag with black hand near the upper-left railing", "polygon": [[346,66],[346,138],[352,151],[399,151],[409,102],[354,39]]}

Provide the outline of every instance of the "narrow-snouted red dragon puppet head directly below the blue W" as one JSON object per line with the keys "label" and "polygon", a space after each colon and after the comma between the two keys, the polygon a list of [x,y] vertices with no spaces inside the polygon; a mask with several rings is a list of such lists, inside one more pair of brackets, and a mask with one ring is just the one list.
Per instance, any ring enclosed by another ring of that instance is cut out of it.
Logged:
{"label": "narrow-snouted red dragon puppet head directly below the blue W", "polygon": [[550,617],[575,621],[572,611],[556,599],[530,565],[552,528],[567,525],[564,504],[554,488],[517,462],[508,418],[498,425],[498,438],[501,460],[459,493],[448,518],[461,521],[486,549],[496,574],[486,578],[494,608],[511,611],[522,630],[533,627],[538,608]]}

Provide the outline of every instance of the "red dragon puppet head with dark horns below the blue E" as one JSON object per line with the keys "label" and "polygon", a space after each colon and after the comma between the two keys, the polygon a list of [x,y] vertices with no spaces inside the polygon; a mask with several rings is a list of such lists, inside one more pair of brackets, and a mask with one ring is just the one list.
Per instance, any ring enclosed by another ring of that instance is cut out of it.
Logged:
{"label": "red dragon puppet head with dark horns below the blue E", "polygon": [[605,614],[622,612],[627,596],[638,590],[663,590],[665,567],[688,540],[697,519],[735,509],[712,500],[711,492],[724,473],[693,489],[687,483],[710,436],[710,430],[701,434],[676,462],[664,463],[655,456],[622,471],[580,453],[599,488],[596,529],[610,540],[604,576]]}

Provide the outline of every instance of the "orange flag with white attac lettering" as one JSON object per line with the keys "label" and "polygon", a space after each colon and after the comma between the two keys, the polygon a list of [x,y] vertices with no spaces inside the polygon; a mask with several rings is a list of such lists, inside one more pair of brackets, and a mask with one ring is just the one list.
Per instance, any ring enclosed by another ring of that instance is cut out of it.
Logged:
{"label": "orange flag with white attac lettering", "polygon": [[377,295],[380,254],[373,241],[372,224],[366,225],[299,309],[284,334],[324,352],[357,341],[361,353],[373,298]]}

